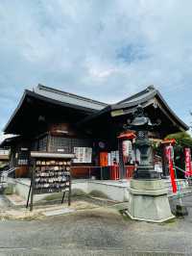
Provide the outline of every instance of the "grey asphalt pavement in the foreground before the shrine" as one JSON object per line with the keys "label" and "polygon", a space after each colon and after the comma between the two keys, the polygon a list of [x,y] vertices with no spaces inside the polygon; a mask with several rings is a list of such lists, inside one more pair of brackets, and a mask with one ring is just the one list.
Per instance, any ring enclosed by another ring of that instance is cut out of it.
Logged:
{"label": "grey asphalt pavement in the foreground before the shrine", "polygon": [[167,224],[97,209],[36,220],[0,221],[0,255],[192,255],[189,216]]}

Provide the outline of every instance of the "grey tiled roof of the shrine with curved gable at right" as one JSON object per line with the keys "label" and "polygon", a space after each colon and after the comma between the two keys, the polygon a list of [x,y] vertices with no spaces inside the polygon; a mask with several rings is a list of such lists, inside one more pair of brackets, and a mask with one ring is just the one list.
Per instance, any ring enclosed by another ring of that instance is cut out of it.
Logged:
{"label": "grey tiled roof of the shrine with curved gable at right", "polygon": [[179,118],[179,116],[177,116],[171,110],[160,92],[153,86],[150,86],[147,89],[132,95],[131,97],[119,101],[116,104],[108,105],[106,103],[81,97],[72,93],[38,85],[35,91],[24,91],[17,108],[14,110],[9,122],[4,128],[5,133],[12,133],[12,123],[14,123],[19,111],[24,108],[28,97],[34,97],[37,100],[42,100],[43,102],[52,103],[61,107],[83,111],[87,114],[87,116],[80,121],[79,124],[99,118],[105,114],[112,115],[115,114],[115,112],[118,115],[130,114],[134,111],[138,104],[141,104],[143,107],[156,104],[161,112],[166,115],[172,121],[172,123],[177,124],[179,130],[189,129],[189,127]]}

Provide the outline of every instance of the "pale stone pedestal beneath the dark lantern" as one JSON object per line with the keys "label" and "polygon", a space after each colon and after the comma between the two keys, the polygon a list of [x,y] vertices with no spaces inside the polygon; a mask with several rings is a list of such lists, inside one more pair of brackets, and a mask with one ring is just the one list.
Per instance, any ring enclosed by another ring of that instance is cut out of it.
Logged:
{"label": "pale stone pedestal beneath the dark lantern", "polygon": [[175,218],[162,180],[131,180],[128,215],[132,219],[163,222]]}

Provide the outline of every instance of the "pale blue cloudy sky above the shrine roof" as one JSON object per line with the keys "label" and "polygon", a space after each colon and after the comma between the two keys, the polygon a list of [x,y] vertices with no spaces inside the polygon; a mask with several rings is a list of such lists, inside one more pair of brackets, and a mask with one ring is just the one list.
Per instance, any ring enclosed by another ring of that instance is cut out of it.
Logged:
{"label": "pale blue cloudy sky above the shrine roof", "polygon": [[36,84],[113,103],[155,85],[192,110],[191,0],[1,0],[0,129]]}

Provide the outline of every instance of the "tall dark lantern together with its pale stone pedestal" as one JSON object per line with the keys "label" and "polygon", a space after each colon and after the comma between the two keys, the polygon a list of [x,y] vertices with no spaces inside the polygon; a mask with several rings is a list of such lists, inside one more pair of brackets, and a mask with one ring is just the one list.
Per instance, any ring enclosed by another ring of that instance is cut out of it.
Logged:
{"label": "tall dark lantern together with its pale stone pedestal", "polygon": [[132,219],[163,222],[175,218],[168,201],[168,190],[155,171],[152,143],[148,132],[158,125],[152,124],[139,105],[132,122],[127,126],[136,133],[135,150],[140,152],[140,161],[130,184],[128,215]]}

